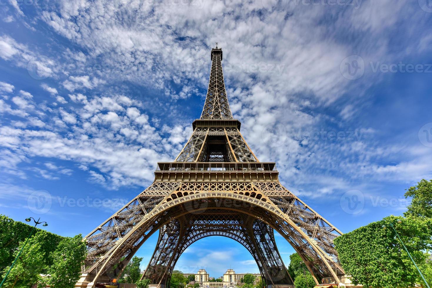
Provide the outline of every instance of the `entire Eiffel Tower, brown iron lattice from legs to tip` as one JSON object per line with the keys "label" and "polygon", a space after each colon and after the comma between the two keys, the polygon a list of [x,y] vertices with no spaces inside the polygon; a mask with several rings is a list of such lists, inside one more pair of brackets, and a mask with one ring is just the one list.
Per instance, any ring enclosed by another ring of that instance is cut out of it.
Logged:
{"label": "entire Eiffel Tower, brown iron lattice from legs to tip", "polygon": [[209,236],[243,245],[268,287],[292,287],[273,231],[299,253],[316,283],[339,283],[344,276],[333,244],[342,233],[280,184],[276,163],[258,161],[232,117],[217,44],[211,61],[191,138],[175,161],[158,163],[150,187],[85,237],[88,254],[76,287],[113,282],[156,231],[156,249],[142,276],[150,287],[168,288],[181,253]]}

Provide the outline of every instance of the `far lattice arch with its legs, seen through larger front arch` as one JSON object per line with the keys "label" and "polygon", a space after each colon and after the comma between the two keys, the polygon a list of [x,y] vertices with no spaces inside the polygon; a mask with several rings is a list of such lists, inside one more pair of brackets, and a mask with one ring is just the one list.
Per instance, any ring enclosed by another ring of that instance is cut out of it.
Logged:
{"label": "far lattice arch with its legs, seen through larger front arch", "polygon": [[[182,225],[172,224],[179,223],[178,220]],[[168,287],[170,275],[184,250],[210,236],[228,237],[243,245],[268,285],[292,285],[292,278],[277,251],[273,229],[261,220],[234,211],[208,209],[202,214],[183,215],[173,222],[167,225],[170,229],[165,226],[160,229],[155,252],[143,273],[143,278],[150,279],[152,285]],[[173,231],[174,227],[178,232]],[[183,228],[184,238],[169,237],[181,234]],[[256,228],[260,230],[254,232]]]}

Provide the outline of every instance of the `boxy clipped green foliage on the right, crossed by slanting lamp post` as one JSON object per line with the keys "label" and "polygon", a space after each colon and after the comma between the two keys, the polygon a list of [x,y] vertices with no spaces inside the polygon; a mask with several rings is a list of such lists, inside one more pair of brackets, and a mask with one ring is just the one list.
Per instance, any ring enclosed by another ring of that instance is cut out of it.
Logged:
{"label": "boxy clipped green foliage on the right, crossed by slanting lamp post", "polygon": [[420,276],[409,256],[395,237],[393,229],[382,228],[396,218],[403,219],[395,229],[405,243],[414,261],[426,263],[424,251],[432,248],[432,219],[389,216],[334,240],[340,263],[351,275],[354,285],[364,287],[413,287],[421,284]]}

